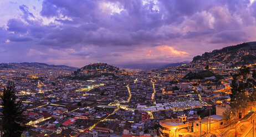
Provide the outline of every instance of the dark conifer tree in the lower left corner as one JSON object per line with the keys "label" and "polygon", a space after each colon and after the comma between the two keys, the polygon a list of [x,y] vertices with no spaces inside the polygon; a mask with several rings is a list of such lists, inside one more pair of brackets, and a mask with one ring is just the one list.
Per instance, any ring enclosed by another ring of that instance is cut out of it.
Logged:
{"label": "dark conifer tree in the lower left corner", "polygon": [[17,97],[13,83],[9,82],[9,85],[4,88],[1,98],[3,136],[21,136],[22,132],[27,129],[25,124],[28,120],[23,114],[25,109],[22,103],[16,102]]}

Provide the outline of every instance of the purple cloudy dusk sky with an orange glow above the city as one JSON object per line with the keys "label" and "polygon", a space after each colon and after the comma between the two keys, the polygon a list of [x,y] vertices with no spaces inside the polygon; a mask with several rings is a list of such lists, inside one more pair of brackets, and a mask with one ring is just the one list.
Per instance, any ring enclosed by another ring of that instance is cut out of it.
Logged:
{"label": "purple cloudy dusk sky with an orange glow above the city", "polygon": [[191,61],[256,41],[254,0],[1,0],[0,62]]}

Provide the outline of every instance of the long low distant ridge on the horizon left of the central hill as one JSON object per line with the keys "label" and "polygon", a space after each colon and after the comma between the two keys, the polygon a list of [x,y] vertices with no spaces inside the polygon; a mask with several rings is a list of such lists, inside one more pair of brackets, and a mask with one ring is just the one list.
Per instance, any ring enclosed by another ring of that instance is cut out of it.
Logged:
{"label": "long low distant ridge on the horizon left of the central hill", "polygon": [[62,69],[66,71],[75,71],[78,69],[77,67],[70,67],[65,65],[48,65],[44,63],[38,63],[38,62],[22,62],[22,63],[1,63],[0,69],[44,69],[44,70],[56,70],[56,69]]}

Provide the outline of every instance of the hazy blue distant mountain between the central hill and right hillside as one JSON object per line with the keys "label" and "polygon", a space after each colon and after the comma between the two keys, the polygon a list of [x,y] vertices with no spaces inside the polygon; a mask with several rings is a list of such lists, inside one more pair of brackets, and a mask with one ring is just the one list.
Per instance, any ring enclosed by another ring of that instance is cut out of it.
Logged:
{"label": "hazy blue distant mountain between the central hill and right hillside", "polygon": [[177,63],[148,63],[148,64],[121,64],[117,65],[124,69],[140,69],[140,70],[148,70],[148,69],[159,69],[159,68],[167,68],[167,67],[175,67],[183,64],[187,64],[188,62],[177,62]]}

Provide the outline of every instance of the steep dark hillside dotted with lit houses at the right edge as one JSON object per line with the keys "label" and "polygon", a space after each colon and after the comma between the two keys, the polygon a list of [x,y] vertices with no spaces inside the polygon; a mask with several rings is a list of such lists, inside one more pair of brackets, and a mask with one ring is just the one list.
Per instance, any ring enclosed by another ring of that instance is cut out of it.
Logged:
{"label": "steep dark hillside dotted with lit houses at the right edge", "polygon": [[243,65],[256,64],[256,42],[227,46],[212,52],[205,52],[201,56],[193,57],[191,67],[233,68]]}

